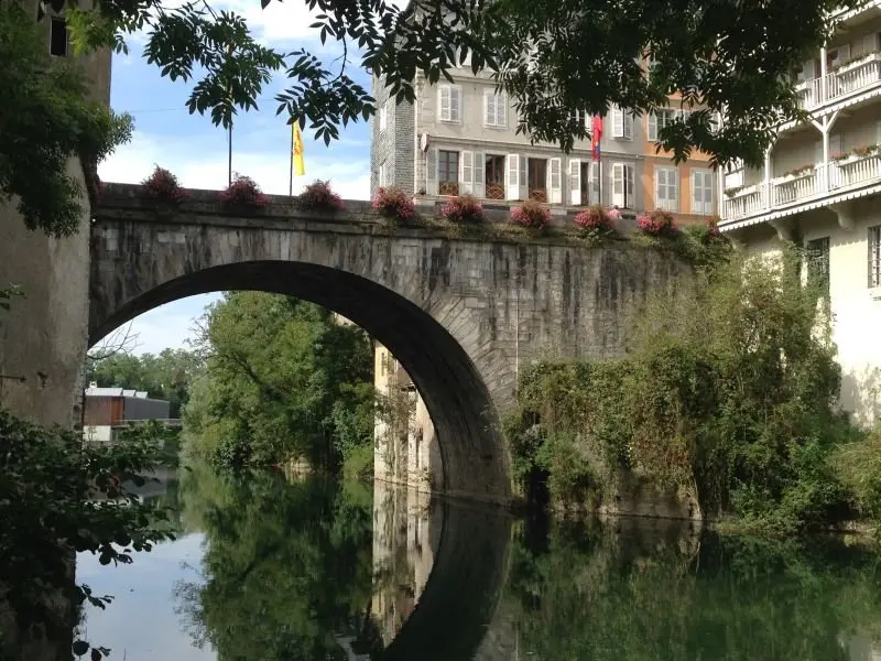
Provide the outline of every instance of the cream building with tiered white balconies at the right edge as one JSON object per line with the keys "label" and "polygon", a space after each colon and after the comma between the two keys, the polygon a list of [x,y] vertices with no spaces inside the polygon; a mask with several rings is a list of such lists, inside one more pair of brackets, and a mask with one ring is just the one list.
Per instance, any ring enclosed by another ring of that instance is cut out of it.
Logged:
{"label": "cream building with tiered white balconies at the right edge", "polygon": [[808,248],[828,282],[841,403],[870,424],[881,412],[881,1],[836,18],[794,74],[809,121],[780,127],[763,167],[726,173],[720,227],[754,252]]}

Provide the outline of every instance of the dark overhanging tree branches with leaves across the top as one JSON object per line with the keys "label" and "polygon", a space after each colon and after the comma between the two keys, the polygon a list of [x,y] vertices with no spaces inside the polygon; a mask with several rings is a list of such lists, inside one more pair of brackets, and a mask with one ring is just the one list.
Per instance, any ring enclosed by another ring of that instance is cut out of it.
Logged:
{"label": "dark overhanging tree branches with leaves across the top", "polygon": [[[144,56],[163,75],[189,80],[204,71],[189,109],[210,111],[225,127],[237,108],[257,107],[263,85],[283,72],[291,85],[275,97],[279,112],[329,143],[340,124],[377,110],[347,74],[350,57],[382,76],[398,102],[414,99],[417,73],[437,83],[468,57],[474,72],[490,72],[508,91],[519,129],[535,140],[568,150],[587,130],[575,111],[605,115],[613,104],[651,112],[682,90],[686,104],[705,110],[662,129],[664,148],[676,159],[700,149],[722,165],[739,156],[758,165],[774,126],[804,117],[788,74],[830,34],[830,12],[859,1],[415,0],[402,10],[385,0],[305,0],[318,12],[313,28],[322,41],[342,44],[333,68],[305,48],[259,45],[241,17],[215,12],[207,0],[174,9],[162,0],[105,0],[100,13],[72,14],[79,47],[122,51],[123,35],[144,29]],[[645,56],[651,75],[640,63]],[[717,111],[721,126],[713,121]]]}

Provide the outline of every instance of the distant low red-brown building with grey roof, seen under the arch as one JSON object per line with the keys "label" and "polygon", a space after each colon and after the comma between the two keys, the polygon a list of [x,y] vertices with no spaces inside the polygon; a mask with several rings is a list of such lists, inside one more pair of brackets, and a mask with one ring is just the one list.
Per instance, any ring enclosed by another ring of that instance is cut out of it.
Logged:
{"label": "distant low red-brown building with grey roof, seen under the arch", "polygon": [[86,388],[83,436],[93,443],[112,443],[117,432],[132,422],[168,420],[170,404],[146,392],[124,388]]}

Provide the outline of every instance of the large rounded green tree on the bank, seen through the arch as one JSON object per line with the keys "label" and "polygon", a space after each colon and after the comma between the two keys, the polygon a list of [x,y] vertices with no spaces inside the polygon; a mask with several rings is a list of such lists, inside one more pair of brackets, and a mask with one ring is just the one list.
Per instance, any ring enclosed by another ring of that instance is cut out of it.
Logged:
{"label": "large rounded green tree on the bank, seen through the arch", "polygon": [[359,327],[291,296],[237,292],[207,311],[198,342],[186,452],[224,468],[293,459],[337,470],[372,457],[373,360]]}

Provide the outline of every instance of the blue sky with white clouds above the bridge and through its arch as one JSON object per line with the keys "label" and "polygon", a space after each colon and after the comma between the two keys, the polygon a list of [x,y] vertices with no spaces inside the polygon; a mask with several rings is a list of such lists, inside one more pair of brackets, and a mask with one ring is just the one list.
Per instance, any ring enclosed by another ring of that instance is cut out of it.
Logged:
{"label": "blue sky with white clouds above the bridge and through its arch", "polygon": [[[215,10],[243,15],[255,37],[281,52],[306,47],[329,63],[341,53],[336,42],[322,46],[303,0],[273,1],[265,10],[257,0],[213,2]],[[131,35],[130,54],[115,55],[110,104],[134,118],[131,142],[117,148],[98,172],[105,182],[140,183],[159,164],[193,188],[221,188],[227,183],[227,132],[208,116],[189,115],[186,100],[193,82],[172,83],[142,57],[144,37]],[[350,54],[351,58],[351,54]],[[370,89],[369,76],[350,62],[347,73]],[[328,66],[328,68],[330,68]],[[259,110],[239,115],[232,133],[232,170],[257,181],[265,193],[287,194],[291,133],[285,115],[276,116],[274,95],[284,89],[280,72],[258,100]],[[370,133],[366,122],[340,130],[340,139],[325,147],[304,131],[306,175],[294,178],[294,194],[316,178],[330,180],[347,199],[368,199],[370,189]],[[192,296],[154,308],[132,322],[135,354],[159,353],[185,346],[192,319],[219,293]]]}

